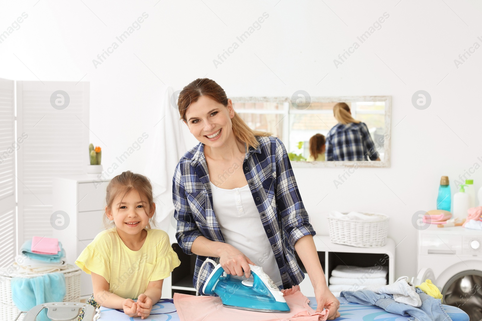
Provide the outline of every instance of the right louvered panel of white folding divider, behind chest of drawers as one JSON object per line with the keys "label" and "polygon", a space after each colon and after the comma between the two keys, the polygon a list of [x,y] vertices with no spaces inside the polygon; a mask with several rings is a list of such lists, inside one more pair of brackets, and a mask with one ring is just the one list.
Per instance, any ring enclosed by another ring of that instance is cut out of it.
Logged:
{"label": "right louvered panel of white folding divider, behind chest of drawers", "polygon": [[52,178],[89,164],[89,82],[17,81],[18,243],[51,237]]}

